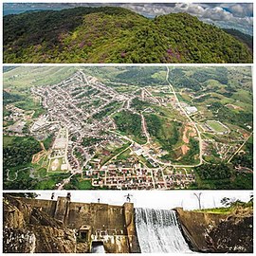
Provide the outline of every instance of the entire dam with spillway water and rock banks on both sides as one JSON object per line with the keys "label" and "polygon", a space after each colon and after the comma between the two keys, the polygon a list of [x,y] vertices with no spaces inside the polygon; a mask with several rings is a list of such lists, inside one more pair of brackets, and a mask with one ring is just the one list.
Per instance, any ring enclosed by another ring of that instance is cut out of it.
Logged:
{"label": "entire dam with spillway water and rock banks on both sides", "polygon": [[[252,229],[248,229],[252,217],[248,216],[234,222],[230,217],[225,221],[227,215],[135,209],[132,203],[78,203],[68,197],[55,201],[4,195],[3,203],[4,252],[219,252],[222,234],[223,251],[252,249]],[[239,239],[230,240],[225,250],[227,231]],[[247,246],[241,237],[247,239]]]}

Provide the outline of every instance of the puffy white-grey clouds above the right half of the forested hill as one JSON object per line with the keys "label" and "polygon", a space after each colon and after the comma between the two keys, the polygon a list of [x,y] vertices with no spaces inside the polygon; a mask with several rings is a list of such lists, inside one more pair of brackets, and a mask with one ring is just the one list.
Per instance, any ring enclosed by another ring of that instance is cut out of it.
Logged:
{"label": "puffy white-grey clouds above the right half of the forested hill", "polygon": [[150,16],[168,13],[187,12],[202,21],[220,27],[240,29],[252,34],[253,5],[252,4],[123,4],[123,7]]}

